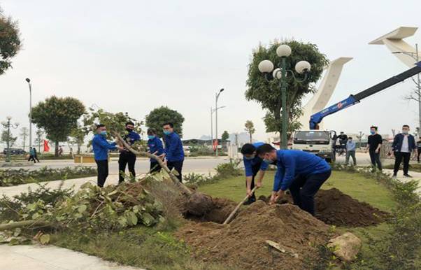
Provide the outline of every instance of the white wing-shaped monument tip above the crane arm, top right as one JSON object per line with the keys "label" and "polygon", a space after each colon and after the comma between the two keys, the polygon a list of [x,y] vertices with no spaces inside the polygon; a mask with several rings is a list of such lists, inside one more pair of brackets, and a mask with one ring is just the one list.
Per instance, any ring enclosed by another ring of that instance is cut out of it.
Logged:
{"label": "white wing-shaped monument tip above the crane arm, top right", "polygon": [[[415,64],[413,56],[416,55],[416,50],[413,46],[406,43],[404,38],[413,36],[417,29],[418,27],[399,27],[384,36],[380,36],[380,38],[376,38],[369,44],[386,45],[401,62],[412,67]],[[418,55],[421,55],[420,51]]]}

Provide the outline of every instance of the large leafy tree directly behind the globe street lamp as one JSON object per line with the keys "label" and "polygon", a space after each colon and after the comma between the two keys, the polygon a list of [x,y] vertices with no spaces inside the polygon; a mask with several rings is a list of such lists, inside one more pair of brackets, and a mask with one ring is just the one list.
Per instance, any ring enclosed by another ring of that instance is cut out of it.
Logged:
{"label": "large leafy tree directly behind the globe street lamp", "polygon": [[[292,54],[286,58],[287,67],[294,72],[297,78],[301,74],[294,71],[294,66],[301,60],[306,60],[311,64],[311,71],[308,73],[307,80],[304,83],[297,83],[289,80],[287,83],[287,112],[288,112],[288,130],[290,134],[300,128],[297,121],[301,115],[301,99],[305,94],[315,92],[315,83],[322,76],[324,66],[329,61],[317,48],[317,45],[303,43],[299,41],[285,41],[292,49]],[[277,80],[266,81],[263,74],[258,69],[259,62],[269,59],[275,66],[278,66],[280,57],[276,55],[276,48],[280,43],[275,41],[269,46],[259,45],[252,52],[252,62],[248,66],[248,89],[245,91],[245,98],[257,101],[264,110],[267,111],[264,116],[266,132],[282,132],[282,97]]]}

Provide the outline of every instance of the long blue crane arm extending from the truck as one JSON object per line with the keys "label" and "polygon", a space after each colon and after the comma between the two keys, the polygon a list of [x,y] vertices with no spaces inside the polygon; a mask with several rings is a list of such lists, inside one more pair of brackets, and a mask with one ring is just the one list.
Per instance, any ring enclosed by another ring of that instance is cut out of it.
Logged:
{"label": "long blue crane arm extending from the truck", "polygon": [[310,118],[310,129],[318,129],[318,125],[322,122],[323,118],[327,115],[331,115],[332,113],[337,113],[338,111],[342,111],[345,108],[348,108],[352,105],[358,104],[359,101],[365,99],[366,97],[370,97],[377,92],[385,90],[392,85],[396,85],[407,78],[411,78],[412,76],[421,73],[421,62],[415,64],[415,66],[407,71],[404,71],[397,76],[393,76],[392,78],[388,78],[387,80],[383,80],[383,82],[378,83],[377,85],[373,85],[372,87],[367,88],[366,90],[359,92],[357,94],[351,94],[350,97],[343,99],[343,101],[339,101],[338,103],[331,105],[327,108],[324,108],[322,111],[311,115]]}

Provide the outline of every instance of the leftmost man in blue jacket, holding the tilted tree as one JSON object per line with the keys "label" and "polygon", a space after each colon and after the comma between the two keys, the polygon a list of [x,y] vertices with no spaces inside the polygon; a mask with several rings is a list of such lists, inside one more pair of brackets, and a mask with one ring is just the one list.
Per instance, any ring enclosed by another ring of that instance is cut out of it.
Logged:
{"label": "leftmost man in blue jacket, holding the tilted tree", "polygon": [[97,125],[97,134],[95,134],[92,139],[92,149],[94,150],[95,162],[97,162],[99,187],[104,187],[108,177],[108,150],[123,150],[123,148],[120,145],[116,145],[115,142],[108,143],[106,136],[107,129],[105,125]]}

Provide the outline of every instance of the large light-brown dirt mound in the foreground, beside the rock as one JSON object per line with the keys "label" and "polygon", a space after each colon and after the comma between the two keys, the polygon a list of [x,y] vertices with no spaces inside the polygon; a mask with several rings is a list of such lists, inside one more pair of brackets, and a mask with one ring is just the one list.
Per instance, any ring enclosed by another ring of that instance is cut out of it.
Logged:
{"label": "large light-brown dirt mound in the foreground, beside the rock", "polygon": [[[329,240],[328,230],[328,225],[297,206],[257,201],[229,225],[188,222],[176,235],[204,262],[241,269],[306,269],[306,262],[317,260],[316,246]],[[287,253],[270,248],[267,240],[280,244]]]}

